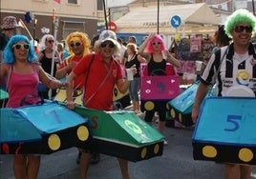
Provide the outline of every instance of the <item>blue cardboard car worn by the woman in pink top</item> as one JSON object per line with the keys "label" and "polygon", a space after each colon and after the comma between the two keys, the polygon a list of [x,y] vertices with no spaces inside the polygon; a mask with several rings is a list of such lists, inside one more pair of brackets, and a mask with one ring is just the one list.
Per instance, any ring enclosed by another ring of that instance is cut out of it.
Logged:
{"label": "blue cardboard car worn by the woman in pink top", "polygon": [[89,120],[56,102],[0,112],[1,154],[49,154],[83,148],[91,137]]}

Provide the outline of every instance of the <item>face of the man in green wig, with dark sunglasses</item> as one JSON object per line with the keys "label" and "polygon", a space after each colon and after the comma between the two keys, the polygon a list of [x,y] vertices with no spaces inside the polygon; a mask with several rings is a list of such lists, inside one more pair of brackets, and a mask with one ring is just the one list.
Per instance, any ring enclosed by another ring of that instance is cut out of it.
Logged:
{"label": "face of the man in green wig, with dark sunglasses", "polygon": [[252,28],[248,23],[239,23],[233,30],[231,35],[233,37],[234,44],[237,46],[246,47],[251,39]]}

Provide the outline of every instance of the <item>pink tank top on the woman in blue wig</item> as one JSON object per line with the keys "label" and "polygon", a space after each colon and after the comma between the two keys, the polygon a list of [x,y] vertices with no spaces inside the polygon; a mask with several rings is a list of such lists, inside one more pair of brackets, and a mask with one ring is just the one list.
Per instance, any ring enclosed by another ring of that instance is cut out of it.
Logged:
{"label": "pink tank top on the woman in blue wig", "polygon": [[[37,85],[39,83],[38,72],[35,65],[32,65],[33,72],[30,74],[18,74],[10,68],[11,73],[8,81],[9,100],[7,107],[20,107],[22,99],[28,95],[38,95]],[[38,98],[31,98],[30,103],[38,102]]]}

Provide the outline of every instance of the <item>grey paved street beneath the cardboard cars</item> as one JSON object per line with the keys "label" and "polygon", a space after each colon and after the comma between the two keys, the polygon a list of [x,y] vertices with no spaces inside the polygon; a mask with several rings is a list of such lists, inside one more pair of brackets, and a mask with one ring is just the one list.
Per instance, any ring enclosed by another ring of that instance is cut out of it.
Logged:
{"label": "grey paved street beneath the cardboard cars", "polygon": [[[156,124],[154,124],[156,126]],[[209,161],[195,161],[192,155],[193,128],[166,128],[169,142],[163,154],[149,160],[130,162],[131,179],[218,179],[223,178],[223,166]],[[75,163],[77,149],[66,149],[42,156],[39,179],[78,178]],[[117,159],[101,154],[100,162],[92,165],[89,179],[120,179]],[[11,156],[1,155],[0,179],[12,179]],[[256,173],[256,170],[254,171]],[[254,178],[254,177],[252,177]],[[256,177],[255,177],[256,178]]]}

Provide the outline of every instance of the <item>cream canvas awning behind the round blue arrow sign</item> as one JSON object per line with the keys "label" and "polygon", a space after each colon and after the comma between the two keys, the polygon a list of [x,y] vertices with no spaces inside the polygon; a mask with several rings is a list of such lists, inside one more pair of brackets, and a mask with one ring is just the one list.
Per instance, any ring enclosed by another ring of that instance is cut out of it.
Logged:
{"label": "cream canvas awning behind the round blue arrow sign", "polygon": [[[170,19],[174,15],[181,17],[178,31],[170,25]],[[157,18],[157,7],[133,8],[117,19],[117,32],[157,32]],[[213,33],[220,22],[213,10],[204,3],[160,6],[160,34],[175,34],[176,31],[185,34]]]}

